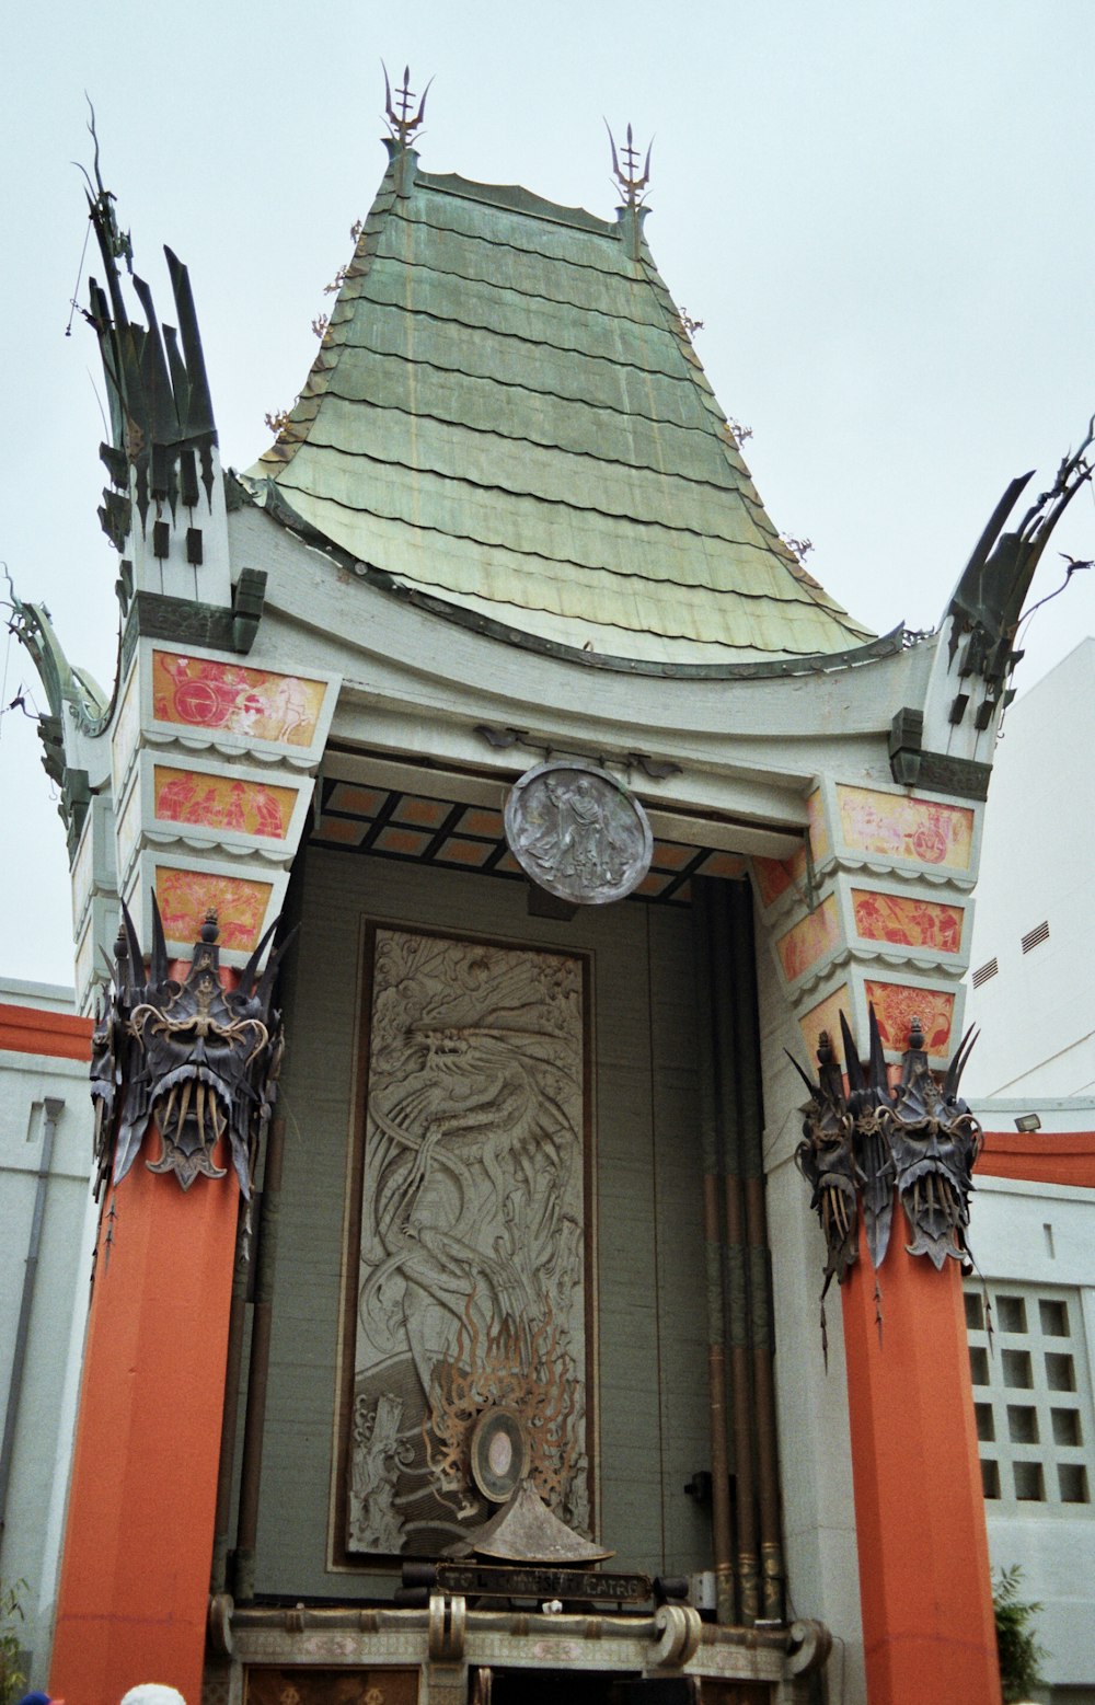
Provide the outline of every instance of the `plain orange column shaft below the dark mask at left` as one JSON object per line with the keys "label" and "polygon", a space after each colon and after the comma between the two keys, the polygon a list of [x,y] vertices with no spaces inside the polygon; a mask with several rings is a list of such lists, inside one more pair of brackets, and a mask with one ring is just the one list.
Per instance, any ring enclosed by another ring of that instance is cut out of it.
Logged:
{"label": "plain orange column shaft below the dark mask at left", "polygon": [[75,1705],[201,1698],[239,1187],[182,1192],[157,1153],[148,1132],[99,1228],[49,1676]]}

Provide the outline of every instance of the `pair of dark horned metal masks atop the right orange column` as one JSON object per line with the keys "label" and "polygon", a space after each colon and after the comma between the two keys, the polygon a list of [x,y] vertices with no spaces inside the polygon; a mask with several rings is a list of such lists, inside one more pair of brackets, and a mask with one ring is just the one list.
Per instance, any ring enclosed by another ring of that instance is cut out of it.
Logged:
{"label": "pair of dark horned metal masks atop the right orange column", "polygon": [[793,1062],[810,1093],[795,1159],[810,1183],[810,1205],[826,1236],[822,1298],[832,1277],[841,1284],[858,1260],[860,1216],[872,1267],[882,1265],[890,1243],[894,1194],[909,1226],[909,1255],[928,1255],[940,1270],[948,1258],[967,1265],[969,1195],[982,1142],[981,1125],[959,1098],[959,1081],[976,1040],[972,1032],[965,1033],[938,1083],[914,1018],[894,1089],[875,1009],[870,1011],[866,1071],[843,1013],[841,1035],[848,1089],[827,1032],[820,1035],[815,1084]]}

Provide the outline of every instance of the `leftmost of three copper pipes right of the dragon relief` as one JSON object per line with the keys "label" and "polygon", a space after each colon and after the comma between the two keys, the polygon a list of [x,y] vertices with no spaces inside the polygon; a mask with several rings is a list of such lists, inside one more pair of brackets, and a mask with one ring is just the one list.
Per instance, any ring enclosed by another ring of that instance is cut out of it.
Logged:
{"label": "leftmost of three copper pipes right of the dragon relief", "polygon": [[733,1623],[733,1562],[730,1531],[730,1459],[727,1453],[727,1350],[723,1320],[723,1238],[720,1156],[715,1115],[715,1049],[711,1032],[711,907],[699,881],[692,902],[696,965],[696,1037],[699,1076],[699,1158],[703,1165],[703,1246],[708,1289],[708,1405],[711,1430],[711,1540],[715,1548],[715,1615]]}

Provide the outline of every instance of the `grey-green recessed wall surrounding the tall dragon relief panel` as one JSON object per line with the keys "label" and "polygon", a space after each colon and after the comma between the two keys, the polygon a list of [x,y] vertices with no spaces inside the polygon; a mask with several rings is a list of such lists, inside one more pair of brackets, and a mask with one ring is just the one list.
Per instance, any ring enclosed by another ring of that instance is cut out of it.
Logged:
{"label": "grey-green recessed wall surrounding the tall dragon relief panel", "polygon": [[621,1567],[710,1563],[684,1494],[708,1465],[694,989],[687,909],[624,902],[563,924],[517,881],[309,851],[287,999],[287,1154],[259,1592],[392,1587],[329,1563],[348,1156],[365,919],[592,953],[599,1534]]}

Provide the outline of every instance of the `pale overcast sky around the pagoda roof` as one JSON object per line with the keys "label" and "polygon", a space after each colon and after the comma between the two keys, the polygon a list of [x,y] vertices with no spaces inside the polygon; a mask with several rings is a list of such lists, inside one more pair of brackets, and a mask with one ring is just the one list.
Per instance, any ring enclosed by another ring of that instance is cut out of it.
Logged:
{"label": "pale overcast sky around the pagoda roof", "polygon": [[[611,218],[602,118],[653,135],[646,235],[774,523],[878,631],[933,626],[1008,479],[1047,479],[1095,409],[1092,0],[599,0],[20,7],[5,24],[0,559],[109,689],[116,559],[97,350],[65,336],[102,176],[171,319],[188,263],[225,464],[266,447],[322,286],[382,176],[384,80],[433,77],[428,170]],[[87,266],[80,300],[87,293]],[[1056,549],[1095,556],[1095,505]],[[1076,575],[1020,691],[1095,631]],[[41,689],[17,646],[3,702]],[[31,720],[0,720],[0,975],[70,982],[63,830]]]}

